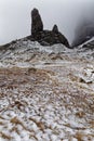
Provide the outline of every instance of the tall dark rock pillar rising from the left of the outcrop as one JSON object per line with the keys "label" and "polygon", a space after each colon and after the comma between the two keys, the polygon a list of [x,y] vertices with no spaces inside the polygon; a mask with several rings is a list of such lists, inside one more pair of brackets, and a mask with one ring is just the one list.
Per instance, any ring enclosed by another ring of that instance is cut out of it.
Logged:
{"label": "tall dark rock pillar rising from the left of the outcrop", "polygon": [[37,9],[31,11],[31,35],[35,37],[39,31],[43,30],[43,23]]}

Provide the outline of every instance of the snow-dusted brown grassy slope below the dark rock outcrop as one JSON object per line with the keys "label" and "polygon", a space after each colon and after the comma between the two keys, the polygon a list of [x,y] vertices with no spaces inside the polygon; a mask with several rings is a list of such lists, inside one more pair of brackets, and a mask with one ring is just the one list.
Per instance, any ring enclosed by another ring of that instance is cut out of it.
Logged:
{"label": "snow-dusted brown grassy slope below the dark rock outcrop", "polygon": [[94,141],[93,53],[24,39],[0,50],[0,141]]}

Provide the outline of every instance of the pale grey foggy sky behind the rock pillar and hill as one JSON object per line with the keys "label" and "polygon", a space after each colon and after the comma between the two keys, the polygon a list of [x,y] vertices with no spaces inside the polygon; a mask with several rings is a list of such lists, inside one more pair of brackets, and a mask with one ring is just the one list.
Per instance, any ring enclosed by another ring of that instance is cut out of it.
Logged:
{"label": "pale grey foggy sky behind the rock pillar and hill", "polygon": [[44,28],[58,29],[71,43],[83,17],[92,18],[94,0],[0,0],[0,44],[30,35],[30,12],[39,9]]}

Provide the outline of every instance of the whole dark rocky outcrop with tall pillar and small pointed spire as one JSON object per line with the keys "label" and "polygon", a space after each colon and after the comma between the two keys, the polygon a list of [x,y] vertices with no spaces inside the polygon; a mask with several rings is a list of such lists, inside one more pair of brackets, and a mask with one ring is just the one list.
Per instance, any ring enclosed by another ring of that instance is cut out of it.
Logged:
{"label": "whole dark rocky outcrop with tall pillar and small pointed spire", "polygon": [[31,38],[33,40],[42,46],[63,43],[69,47],[68,40],[58,31],[57,25],[54,25],[52,30],[43,30],[43,23],[37,9],[31,11]]}

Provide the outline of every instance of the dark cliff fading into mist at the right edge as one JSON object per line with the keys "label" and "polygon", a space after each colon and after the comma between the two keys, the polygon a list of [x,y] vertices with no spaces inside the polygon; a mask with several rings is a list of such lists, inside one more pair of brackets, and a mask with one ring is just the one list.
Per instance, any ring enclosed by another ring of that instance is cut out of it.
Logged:
{"label": "dark cliff fading into mist at the right edge", "polygon": [[94,36],[94,21],[84,21],[82,22],[76,30],[75,40],[72,47],[77,47],[88,41]]}

